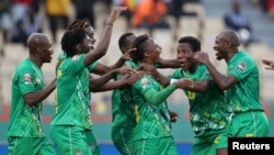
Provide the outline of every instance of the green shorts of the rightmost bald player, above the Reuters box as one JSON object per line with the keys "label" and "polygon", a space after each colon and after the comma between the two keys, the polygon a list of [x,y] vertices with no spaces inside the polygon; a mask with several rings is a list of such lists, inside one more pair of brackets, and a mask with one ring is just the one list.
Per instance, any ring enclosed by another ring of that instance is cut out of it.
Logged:
{"label": "green shorts of the rightmost bald player, above the Reuters box", "polygon": [[270,132],[270,122],[263,111],[236,113],[228,128],[229,136],[263,137]]}

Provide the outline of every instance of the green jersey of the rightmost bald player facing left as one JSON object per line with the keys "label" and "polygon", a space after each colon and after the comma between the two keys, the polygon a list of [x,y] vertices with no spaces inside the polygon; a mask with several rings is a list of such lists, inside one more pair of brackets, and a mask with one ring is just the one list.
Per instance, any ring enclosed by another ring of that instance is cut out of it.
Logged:
{"label": "green jersey of the rightmost bald player facing left", "polygon": [[229,62],[227,74],[238,82],[227,90],[227,98],[235,112],[261,110],[259,69],[255,60],[246,52],[238,52]]}

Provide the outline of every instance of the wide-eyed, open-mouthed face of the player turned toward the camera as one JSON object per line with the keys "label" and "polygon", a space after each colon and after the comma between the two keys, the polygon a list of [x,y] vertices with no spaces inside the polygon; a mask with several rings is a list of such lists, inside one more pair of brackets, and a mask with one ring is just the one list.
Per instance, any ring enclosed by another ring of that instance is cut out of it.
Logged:
{"label": "wide-eyed, open-mouthed face of the player turned toward the camera", "polygon": [[183,70],[191,70],[196,66],[194,52],[189,43],[179,43],[176,47],[176,58]]}

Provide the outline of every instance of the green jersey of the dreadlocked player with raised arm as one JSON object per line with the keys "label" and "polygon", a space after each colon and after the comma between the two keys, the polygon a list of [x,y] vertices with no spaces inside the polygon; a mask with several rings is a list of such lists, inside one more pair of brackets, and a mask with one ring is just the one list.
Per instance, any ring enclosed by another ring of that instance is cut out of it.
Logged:
{"label": "green jersey of the dreadlocked player with raised arm", "polygon": [[84,54],[62,60],[57,70],[56,113],[52,124],[91,128],[89,70]]}

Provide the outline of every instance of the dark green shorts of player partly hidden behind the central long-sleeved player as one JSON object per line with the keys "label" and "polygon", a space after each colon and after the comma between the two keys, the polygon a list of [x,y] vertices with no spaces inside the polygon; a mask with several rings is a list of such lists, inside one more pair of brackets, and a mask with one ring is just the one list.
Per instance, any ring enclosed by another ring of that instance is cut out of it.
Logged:
{"label": "dark green shorts of player partly hidden behind the central long-sleeved player", "polygon": [[112,141],[118,152],[123,155],[134,154],[134,128],[113,126]]}

